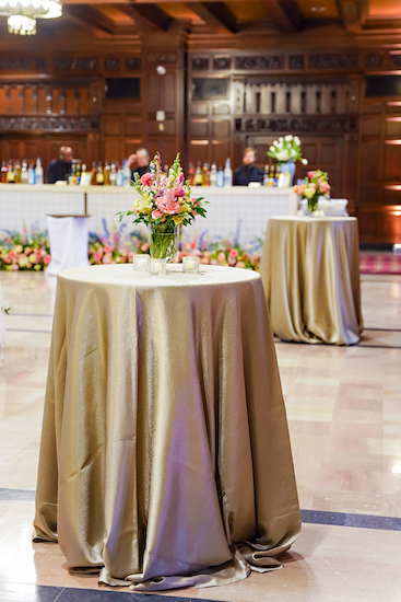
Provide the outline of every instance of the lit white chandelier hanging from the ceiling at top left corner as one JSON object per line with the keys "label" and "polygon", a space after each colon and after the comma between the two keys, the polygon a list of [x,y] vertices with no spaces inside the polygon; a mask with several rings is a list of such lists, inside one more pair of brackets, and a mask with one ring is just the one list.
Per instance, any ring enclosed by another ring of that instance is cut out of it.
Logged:
{"label": "lit white chandelier hanging from the ceiling at top left corner", "polygon": [[0,0],[0,14],[8,16],[11,34],[35,35],[36,19],[56,19],[62,14],[60,0]]}

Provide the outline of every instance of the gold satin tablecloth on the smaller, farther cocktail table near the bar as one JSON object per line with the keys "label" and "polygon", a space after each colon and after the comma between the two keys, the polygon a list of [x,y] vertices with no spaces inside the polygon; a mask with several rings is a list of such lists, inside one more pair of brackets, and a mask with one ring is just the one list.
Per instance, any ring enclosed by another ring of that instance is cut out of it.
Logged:
{"label": "gold satin tablecloth on the smaller, farther cocktail table near the bar", "polygon": [[273,332],[282,340],[358,343],[356,218],[270,218],[260,274]]}

